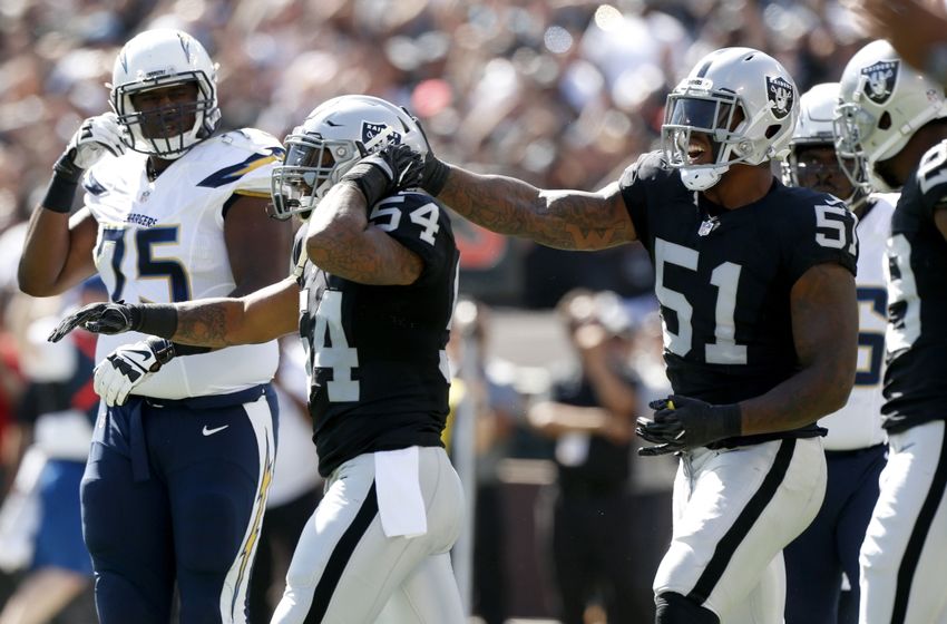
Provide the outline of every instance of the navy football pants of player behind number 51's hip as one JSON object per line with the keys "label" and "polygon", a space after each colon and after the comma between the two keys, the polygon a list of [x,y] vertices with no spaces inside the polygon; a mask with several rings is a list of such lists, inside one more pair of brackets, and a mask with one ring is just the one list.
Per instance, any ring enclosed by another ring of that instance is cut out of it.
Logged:
{"label": "navy football pants of player behind number 51's hip", "polygon": [[[878,500],[887,447],[827,451],[828,486],[819,515],[783,550],[785,624],[858,621],[858,552]],[[839,612],[841,575],[851,583],[848,613]]]}

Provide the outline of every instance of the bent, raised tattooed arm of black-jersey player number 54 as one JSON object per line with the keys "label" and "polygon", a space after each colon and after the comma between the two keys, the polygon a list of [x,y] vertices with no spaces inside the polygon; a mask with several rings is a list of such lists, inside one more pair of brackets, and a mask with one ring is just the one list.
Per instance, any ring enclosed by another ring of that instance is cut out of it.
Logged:
{"label": "bent, raised tattooed arm of black-jersey player number 54", "polygon": [[310,217],[306,253],[313,264],[361,284],[410,284],[423,270],[414,252],[368,221],[364,195],[336,184]]}

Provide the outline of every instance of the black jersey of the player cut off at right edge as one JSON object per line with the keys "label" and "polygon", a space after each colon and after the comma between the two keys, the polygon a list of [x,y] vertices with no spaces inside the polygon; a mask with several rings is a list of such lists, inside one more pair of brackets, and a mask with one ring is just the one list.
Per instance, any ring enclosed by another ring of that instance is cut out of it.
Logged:
{"label": "black jersey of the player cut off at right edge", "polygon": [[947,413],[947,142],[929,149],[901,191],[888,240],[888,368],[883,427],[901,431]]}

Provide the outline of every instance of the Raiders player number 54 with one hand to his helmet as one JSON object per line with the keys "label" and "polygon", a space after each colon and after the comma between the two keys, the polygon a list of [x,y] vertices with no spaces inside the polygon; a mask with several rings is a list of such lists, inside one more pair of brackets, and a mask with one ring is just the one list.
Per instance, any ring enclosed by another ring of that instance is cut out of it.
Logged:
{"label": "Raiders player number 54 with one hand to his helmet", "polygon": [[[459,253],[446,211],[417,186],[423,148],[411,117],[342,96],[286,138],[273,172],[276,216],[301,213],[293,275],[242,299],[108,304],[76,324],[137,329],[225,347],[299,330],[326,490],[306,524],[273,623],[461,624],[449,550],[462,524],[460,480],[441,442],[445,348]],[[365,157],[365,154],[370,154]]]}

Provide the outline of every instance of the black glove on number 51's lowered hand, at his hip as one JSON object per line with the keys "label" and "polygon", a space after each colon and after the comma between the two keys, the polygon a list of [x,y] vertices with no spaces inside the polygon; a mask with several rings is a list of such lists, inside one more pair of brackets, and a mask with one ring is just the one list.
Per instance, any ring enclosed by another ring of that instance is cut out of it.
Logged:
{"label": "black glove on number 51's lowered hand, at his hip", "polygon": [[638,455],[652,457],[678,452],[741,433],[740,406],[712,406],[697,399],[672,394],[652,401],[654,420],[637,419],[635,432],[656,446],[638,449]]}

